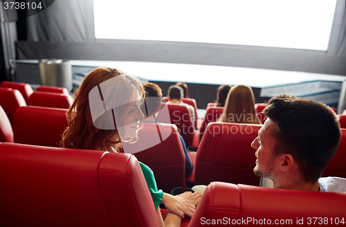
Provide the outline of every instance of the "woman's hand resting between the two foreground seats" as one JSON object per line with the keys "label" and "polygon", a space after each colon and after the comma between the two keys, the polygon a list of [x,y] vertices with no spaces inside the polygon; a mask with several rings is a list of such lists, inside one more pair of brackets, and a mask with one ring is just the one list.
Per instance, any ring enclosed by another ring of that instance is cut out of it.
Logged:
{"label": "woman's hand resting between the two foreground seats", "polygon": [[164,192],[162,203],[165,205],[165,208],[167,208],[167,210],[176,215],[179,215],[179,217],[181,218],[183,218],[185,215],[192,217],[196,207],[188,199],[185,199],[185,197],[180,195],[174,197],[172,194],[167,194]]}

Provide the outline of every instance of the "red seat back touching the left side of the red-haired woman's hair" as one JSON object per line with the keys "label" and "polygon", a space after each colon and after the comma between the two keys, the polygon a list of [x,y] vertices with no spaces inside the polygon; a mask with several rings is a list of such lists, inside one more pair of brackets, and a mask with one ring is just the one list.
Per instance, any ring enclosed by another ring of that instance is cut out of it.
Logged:
{"label": "red seat back touching the left side of the red-haired woman's hair", "polygon": [[59,147],[67,109],[26,106],[15,113],[15,143]]}

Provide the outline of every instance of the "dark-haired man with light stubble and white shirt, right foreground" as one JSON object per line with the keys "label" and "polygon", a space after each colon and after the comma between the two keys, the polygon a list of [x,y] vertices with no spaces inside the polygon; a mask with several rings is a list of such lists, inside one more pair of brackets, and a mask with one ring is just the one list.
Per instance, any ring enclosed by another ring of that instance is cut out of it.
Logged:
{"label": "dark-haired man with light stubble and white shirt, right foreground", "polygon": [[276,96],[251,146],[256,149],[256,176],[273,188],[346,192],[346,179],[320,177],[340,142],[338,116],[327,105],[294,96]]}

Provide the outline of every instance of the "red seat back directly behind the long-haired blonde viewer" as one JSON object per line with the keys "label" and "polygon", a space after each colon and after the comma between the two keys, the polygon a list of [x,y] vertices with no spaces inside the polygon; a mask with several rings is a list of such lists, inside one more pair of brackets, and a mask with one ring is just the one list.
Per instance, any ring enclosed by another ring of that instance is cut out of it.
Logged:
{"label": "red seat back directly behind the long-haired blonde viewer", "polygon": [[256,157],[251,143],[261,126],[210,122],[197,149],[194,176],[187,181],[194,185],[212,181],[260,185],[260,177],[253,174]]}

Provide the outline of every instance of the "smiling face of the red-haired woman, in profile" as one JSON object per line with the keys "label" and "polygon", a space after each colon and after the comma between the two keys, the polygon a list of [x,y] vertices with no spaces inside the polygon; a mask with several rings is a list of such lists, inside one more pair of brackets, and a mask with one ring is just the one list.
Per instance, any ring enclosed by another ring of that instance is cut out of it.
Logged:
{"label": "smiling face of the red-haired woman, in profile", "polygon": [[118,128],[122,137],[134,138],[138,134],[139,121],[145,118],[139,108],[140,100],[140,95],[136,92],[134,101],[130,102],[123,112],[124,114],[121,117],[122,126]]}

